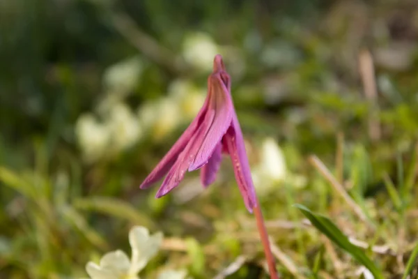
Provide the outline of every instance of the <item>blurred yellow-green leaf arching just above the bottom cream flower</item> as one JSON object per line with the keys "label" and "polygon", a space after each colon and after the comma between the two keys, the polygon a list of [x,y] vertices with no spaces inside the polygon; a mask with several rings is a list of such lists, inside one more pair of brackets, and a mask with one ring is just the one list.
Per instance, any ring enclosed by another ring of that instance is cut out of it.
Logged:
{"label": "blurred yellow-green leaf arching just above the bottom cream flower", "polygon": [[136,225],[143,225],[144,227],[155,227],[150,218],[139,213],[133,206],[124,202],[121,199],[114,199],[111,197],[88,197],[75,199],[73,206],[76,209],[98,211],[107,213],[111,216],[124,218],[130,220]]}

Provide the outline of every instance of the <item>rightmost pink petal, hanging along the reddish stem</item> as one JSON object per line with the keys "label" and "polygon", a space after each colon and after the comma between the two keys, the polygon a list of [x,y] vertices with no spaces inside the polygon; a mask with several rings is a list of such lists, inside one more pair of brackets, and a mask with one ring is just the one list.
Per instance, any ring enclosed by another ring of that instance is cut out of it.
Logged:
{"label": "rightmost pink petal, hanging along the reddish stem", "polygon": [[238,188],[240,188],[245,206],[247,206],[249,212],[252,212],[252,209],[256,206],[256,193],[251,179],[244,138],[242,137],[240,123],[238,123],[236,114],[233,115],[231,127],[226,132],[223,142],[226,144],[226,148],[231,156],[235,179],[237,180]]}

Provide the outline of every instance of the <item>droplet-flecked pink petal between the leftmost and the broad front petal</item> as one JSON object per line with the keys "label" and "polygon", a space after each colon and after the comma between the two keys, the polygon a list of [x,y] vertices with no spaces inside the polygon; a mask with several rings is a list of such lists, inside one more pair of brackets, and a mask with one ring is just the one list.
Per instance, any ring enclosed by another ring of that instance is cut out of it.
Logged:
{"label": "droplet-flecked pink petal between the leftmost and the broad front petal", "polygon": [[[208,114],[206,114],[205,120],[210,123],[213,120],[214,116],[214,112],[208,112]],[[192,135],[189,142],[185,146],[185,149],[181,151],[180,155],[176,160],[176,163],[170,169],[169,173],[167,174],[167,177],[162,182],[162,186],[160,187],[160,190],[158,190],[157,195],[155,195],[155,197],[162,197],[164,195],[167,195],[167,193],[169,193],[171,190],[173,190],[173,188],[178,186],[180,181],[183,180],[185,172],[187,172],[190,163],[192,163],[194,156],[196,156],[196,153],[200,147],[200,143],[202,142],[203,137],[205,136],[205,132],[206,130],[208,130],[208,123],[206,123],[206,121],[203,121],[203,123],[201,123],[201,126],[199,126],[199,128],[196,130],[196,133]]]}

